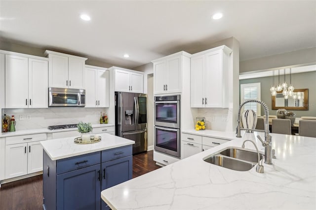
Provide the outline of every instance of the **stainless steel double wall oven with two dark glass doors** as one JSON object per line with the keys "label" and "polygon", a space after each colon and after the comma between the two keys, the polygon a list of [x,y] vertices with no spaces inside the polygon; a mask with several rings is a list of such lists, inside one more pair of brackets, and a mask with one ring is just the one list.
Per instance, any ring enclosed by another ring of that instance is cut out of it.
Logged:
{"label": "stainless steel double wall oven with two dark glass doors", "polygon": [[180,95],[155,96],[156,151],[180,158]]}

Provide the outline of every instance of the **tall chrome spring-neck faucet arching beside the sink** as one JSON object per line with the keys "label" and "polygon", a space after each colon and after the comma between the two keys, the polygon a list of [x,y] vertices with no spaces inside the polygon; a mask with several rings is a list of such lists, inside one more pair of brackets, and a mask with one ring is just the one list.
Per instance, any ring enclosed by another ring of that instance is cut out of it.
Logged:
{"label": "tall chrome spring-neck faucet arching beside the sink", "polygon": [[[257,130],[257,129],[241,128],[241,126],[240,126],[240,111],[241,111],[241,107],[247,103],[258,103],[258,104],[263,106],[263,108],[265,110],[265,123],[264,123],[265,130],[264,131]],[[269,108],[264,102],[257,101],[257,100],[249,100],[249,101],[246,101],[246,102],[242,103],[241,105],[239,105],[238,119],[237,119],[237,131],[236,131],[237,138],[241,138],[240,130],[265,132],[265,140],[264,141],[261,139],[261,137],[259,135],[257,136],[257,138],[261,141],[262,146],[265,147],[265,163],[272,165],[272,137],[269,135]]]}

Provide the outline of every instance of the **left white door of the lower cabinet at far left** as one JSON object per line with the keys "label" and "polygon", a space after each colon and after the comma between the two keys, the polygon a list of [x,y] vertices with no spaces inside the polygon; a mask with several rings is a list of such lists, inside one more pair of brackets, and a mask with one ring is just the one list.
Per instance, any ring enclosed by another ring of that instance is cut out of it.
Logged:
{"label": "left white door of the lower cabinet at far left", "polygon": [[12,178],[28,173],[28,143],[5,146],[5,178]]}

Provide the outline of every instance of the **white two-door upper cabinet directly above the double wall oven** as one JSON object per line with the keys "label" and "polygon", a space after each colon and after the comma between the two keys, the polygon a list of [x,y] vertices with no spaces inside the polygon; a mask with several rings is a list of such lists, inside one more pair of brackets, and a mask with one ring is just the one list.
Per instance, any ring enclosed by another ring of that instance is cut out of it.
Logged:
{"label": "white two-door upper cabinet directly above the double wall oven", "polygon": [[157,60],[154,64],[154,94],[168,94],[182,92],[182,71],[184,56],[189,53],[179,52]]}

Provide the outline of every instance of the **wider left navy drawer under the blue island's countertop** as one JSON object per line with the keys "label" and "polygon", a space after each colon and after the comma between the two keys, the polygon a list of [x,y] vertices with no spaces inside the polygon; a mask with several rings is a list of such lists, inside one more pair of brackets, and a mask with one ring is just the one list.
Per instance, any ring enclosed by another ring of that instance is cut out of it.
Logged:
{"label": "wider left navy drawer under the blue island's countertop", "polygon": [[100,160],[101,152],[93,152],[89,154],[57,160],[57,175],[99,164]]}

